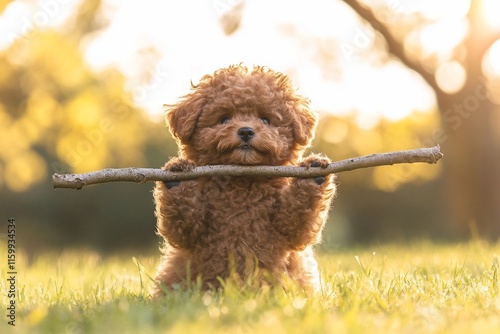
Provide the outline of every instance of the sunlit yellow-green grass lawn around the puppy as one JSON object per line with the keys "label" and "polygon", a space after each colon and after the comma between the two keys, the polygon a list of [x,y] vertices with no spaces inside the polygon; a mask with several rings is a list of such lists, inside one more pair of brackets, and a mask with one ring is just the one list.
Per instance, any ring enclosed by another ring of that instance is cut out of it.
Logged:
{"label": "sunlit yellow-green grass lawn around the puppy", "polygon": [[193,287],[161,301],[148,295],[158,254],[103,258],[75,251],[31,263],[18,254],[16,327],[2,315],[0,332],[499,333],[498,253],[500,244],[481,242],[339,250],[319,255],[320,296],[294,288]]}

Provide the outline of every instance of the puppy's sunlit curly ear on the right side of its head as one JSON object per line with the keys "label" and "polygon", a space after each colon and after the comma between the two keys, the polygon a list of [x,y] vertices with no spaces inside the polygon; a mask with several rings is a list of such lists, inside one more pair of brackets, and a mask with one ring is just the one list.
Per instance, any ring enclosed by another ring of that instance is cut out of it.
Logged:
{"label": "puppy's sunlit curly ear on the right side of its head", "polygon": [[307,100],[296,101],[291,108],[293,117],[293,136],[295,142],[301,146],[308,146],[314,137],[317,117],[309,109]]}

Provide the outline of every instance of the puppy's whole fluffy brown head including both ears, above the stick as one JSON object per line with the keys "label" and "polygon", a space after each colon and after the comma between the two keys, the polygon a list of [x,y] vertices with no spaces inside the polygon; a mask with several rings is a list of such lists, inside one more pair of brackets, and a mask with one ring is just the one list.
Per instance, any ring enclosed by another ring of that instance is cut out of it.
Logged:
{"label": "puppy's whole fluffy brown head including both ears, above the stick", "polygon": [[180,153],[198,165],[287,165],[312,139],[316,118],[286,76],[232,66],[205,76],[168,113]]}

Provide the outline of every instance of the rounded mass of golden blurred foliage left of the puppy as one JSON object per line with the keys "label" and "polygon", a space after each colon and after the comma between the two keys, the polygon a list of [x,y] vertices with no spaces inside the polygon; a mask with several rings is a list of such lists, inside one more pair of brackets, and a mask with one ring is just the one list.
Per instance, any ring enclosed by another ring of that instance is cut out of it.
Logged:
{"label": "rounded mass of golden blurred foliage left of the puppy", "polygon": [[34,32],[0,55],[0,68],[3,186],[22,192],[51,172],[144,163],[148,120],[123,76],[93,73],[65,36]]}

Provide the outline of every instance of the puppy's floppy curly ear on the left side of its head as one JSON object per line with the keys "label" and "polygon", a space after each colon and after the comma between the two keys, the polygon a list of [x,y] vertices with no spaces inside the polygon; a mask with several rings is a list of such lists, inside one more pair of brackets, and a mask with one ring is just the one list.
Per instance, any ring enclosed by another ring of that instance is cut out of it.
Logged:
{"label": "puppy's floppy curly ear on the left side of its head", "polygon": [[201,115],[205,98],[201,94],[192,93],[175,105],[163,105],[167,115],[170,133],[182,143],[187,143],[194,133],[196,123]]}

